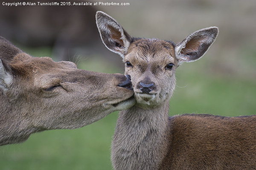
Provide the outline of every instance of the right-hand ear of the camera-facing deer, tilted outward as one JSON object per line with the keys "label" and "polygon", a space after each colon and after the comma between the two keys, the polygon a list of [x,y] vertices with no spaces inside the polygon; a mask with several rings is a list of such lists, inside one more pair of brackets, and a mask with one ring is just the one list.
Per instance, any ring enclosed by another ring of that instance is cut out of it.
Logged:
{"label": "right-hand ear of the camera-facing deer, tilted outward", "polygon": [[190,34],[185,40],[175,46],[178,65],[200,59],[215,41],[218,27],[204,28]]}

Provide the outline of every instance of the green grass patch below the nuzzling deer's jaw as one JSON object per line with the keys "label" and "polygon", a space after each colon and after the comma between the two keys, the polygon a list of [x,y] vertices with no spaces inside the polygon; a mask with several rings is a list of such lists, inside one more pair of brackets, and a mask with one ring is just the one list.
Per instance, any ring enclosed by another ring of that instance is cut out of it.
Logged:
{"label": "green grass patch below the nuzzling deer's jaw", "polygon": [[110,145],[117,113],[75,130],[32,134],[0,147],[1,170],[111,170]]}

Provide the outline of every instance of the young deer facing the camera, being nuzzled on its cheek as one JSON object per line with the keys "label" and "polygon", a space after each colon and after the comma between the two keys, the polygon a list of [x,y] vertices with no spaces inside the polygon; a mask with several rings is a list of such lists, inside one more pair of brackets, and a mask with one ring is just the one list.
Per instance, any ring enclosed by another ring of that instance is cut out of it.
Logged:
{"label": "young deer facing the camera, being nuzzled on its cheek", "polygon": [[119,112],[111,144],[114,170],[241,170],[256,168],[256,116],[169,116],[175,70],[200,59],[218,27],[189,34],[181,42],[134,38],[98,11],[102,42],[125,62],[136,103]]}

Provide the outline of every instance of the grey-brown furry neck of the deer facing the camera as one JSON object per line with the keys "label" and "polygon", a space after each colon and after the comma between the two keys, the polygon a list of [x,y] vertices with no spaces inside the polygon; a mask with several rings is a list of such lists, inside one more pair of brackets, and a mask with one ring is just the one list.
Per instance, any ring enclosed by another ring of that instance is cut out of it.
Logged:
{"label": "grey-brown furry neck of the deer facing the camera", "polygon": [[167,154],[169,102],[150,110],[134,106],[121,111],[112,141],[116,170],[156,170]]}

